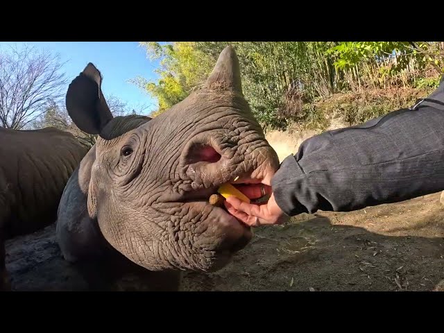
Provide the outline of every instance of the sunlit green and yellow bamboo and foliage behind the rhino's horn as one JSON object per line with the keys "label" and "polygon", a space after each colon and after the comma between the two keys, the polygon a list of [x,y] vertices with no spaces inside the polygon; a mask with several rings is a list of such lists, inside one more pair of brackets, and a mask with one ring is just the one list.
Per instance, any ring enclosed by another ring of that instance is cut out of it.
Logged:
{"label": "sunlit green and yellow bamboo and foliage behind the rhino's horn", "polygon": [[285,128],[294,121],[323,126],[328,114],[321,114],[316,103],[332,94],[363,94],[392,87],[436,87],[444,60],[443,42],[141,44],[148,58],[160,59],[157,80],[140,77],[135,80],[157,99],[159,107],[155,114],[200,87],[219,53],[232,44],[241,63],[244,95],[265,129]]}

